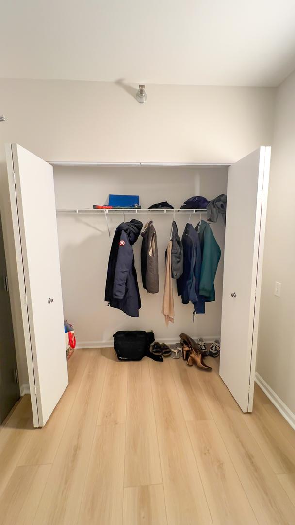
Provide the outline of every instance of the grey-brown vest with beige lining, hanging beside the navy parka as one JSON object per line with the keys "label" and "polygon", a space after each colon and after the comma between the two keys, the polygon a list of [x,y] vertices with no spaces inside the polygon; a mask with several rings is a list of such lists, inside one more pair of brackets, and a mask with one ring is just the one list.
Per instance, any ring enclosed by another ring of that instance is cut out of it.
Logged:
{"label": "grey-brown vest with beige lining, hanging beside the navy parka", "polygon": [[143,243],[141,244],[141,277],[143,287],[149,293],[159,291],[159,267],[158,267],[158,245],[157,234],[152,220],[145,225],[141,232]]}

